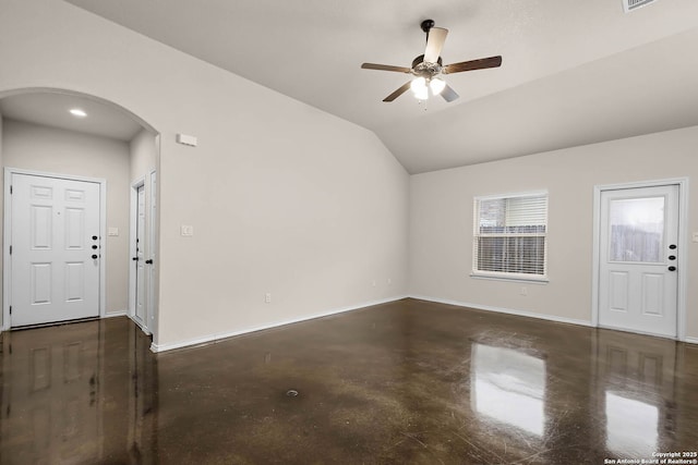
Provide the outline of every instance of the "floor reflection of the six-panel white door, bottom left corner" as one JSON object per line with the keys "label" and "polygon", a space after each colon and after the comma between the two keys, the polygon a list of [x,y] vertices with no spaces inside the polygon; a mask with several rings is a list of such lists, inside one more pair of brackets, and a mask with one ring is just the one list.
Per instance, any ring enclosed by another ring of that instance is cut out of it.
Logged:
{"label": "floor reflection of the six-panel white door, bottom left corner", "polygon": [[[45,341],[7,336],[2,358],[2,437],[14,444],[12,460],[37,463],[45,456],[97,460],[103,449],[99,327]],[[94,355],[93,355],[94,354]],[[8,378],[12,382],[5,381]],[[3,461],[5,458],[3,457]]]}

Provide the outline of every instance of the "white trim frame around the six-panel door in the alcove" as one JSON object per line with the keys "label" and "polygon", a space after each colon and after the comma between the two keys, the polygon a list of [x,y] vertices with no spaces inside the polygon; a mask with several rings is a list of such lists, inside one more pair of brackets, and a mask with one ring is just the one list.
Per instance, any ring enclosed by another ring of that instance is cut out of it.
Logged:
{"label": "white trim frame around the six-panel door in the alcove", "polygon": [[4,168],[4,186],[3,186],[3,231],[2,231],[2,331],[11,328],[10,321],[10,302],[12,290],[12,260],[10,256],[10,237],[12,236],[12,196],[10,186],[12,185],[13,174],[25,174],[31,176],[57,178],[68,181],[82,181],[99,184],[99,237],[101,248],[99,249],[99,318],[105,317],[107,308],[107,274],[106,262],[107,256],[107,180],[103,178],[79,176],[73,174],[51,173],[46,171],[25,170],[21,168]]}

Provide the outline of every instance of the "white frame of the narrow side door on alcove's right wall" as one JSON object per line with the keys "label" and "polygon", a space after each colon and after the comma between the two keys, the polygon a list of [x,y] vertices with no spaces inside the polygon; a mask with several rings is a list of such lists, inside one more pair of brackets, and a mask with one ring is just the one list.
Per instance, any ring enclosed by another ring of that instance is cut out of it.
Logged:
{"label": "white frame of the narrow side door on alcove's right wall", "polygon": [[[146,268],[143,268],[143,272],[145,273],[145,276],[143,277],[144,279],[144,287],[145,287],[145,321],[139,321],[135,318],[135,289],[136,289],[136,271],[135,271],[135,267],[133,267],[133,261],[132,261],[132,257],[135,257],[135,238],[137,236],[137,222],[139,222],[139,188],[143,187],[143,192],[145,195],[145,229],[146,231],[144,231],[144,235],[147,237],[148,235],[148,196],[147,196],[147,187],[145,186],[145,178],[139,178],[135,181],[133,181],[131,183],[131,207],[129,209],[129,223],[130,223],[130,231],[129,231],[129,318],[135,322],[142,330],[143,332],[145,332],[146,334],[151,334],[151,330],[149,330],[149,320],[151,320],[151,303],[148,302],[148,276],[146,272]],[[148,255],[149,255],[149,250],[148,247],[146,245],[146,241],[145,237],[143,237],[143,244],[146,247],[144,250],[143,256],[147,259]]]}

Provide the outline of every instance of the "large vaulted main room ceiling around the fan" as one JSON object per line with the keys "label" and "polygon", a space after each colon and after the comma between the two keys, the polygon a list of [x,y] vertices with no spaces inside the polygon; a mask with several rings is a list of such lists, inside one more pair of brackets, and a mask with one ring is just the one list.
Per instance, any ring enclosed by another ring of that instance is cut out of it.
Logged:
{"label": "large vaulted main room ceiling around the fan", "polygon": [[[657,0],[68,0],[374,131],[411,173],[698,124],[698,2]],[[423,52],[422,20],[449,29],[460,99],[381,100]]]}

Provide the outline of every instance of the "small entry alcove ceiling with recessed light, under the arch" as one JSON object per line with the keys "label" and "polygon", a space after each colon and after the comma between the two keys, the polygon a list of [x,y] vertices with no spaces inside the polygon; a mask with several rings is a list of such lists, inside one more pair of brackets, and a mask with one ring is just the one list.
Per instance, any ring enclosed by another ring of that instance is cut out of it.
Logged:
{"label": "small entry alcove ceiling with recessed light, under the arch", "polygon": [[[73,108],[87,113],[75,118]],[[10,120],[59,127],[119,140],[131,140],[143,127],[133,118],[95,99],[55,91],[17,94],[0,100],[0,114]]]}

